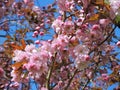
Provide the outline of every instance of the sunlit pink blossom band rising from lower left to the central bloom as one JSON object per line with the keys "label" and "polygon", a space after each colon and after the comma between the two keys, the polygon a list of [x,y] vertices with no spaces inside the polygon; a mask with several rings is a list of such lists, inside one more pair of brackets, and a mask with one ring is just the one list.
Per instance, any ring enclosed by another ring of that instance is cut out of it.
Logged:
{"label": "sunlit pink blossom band rising from lower left to the central bloom", "polygon": [[[39,78],[42,74],[48,71],[48,62],[49,60],[51,60],[55,51],[64,50],[67,44],[68,37],[59,35],[52,42],[40,42],[39,48],[35,47],[34,45],[27,45],[25,51],[14,51],[13,61],[15,61],[16,63],[23,62],[22,69],[24,71],[29,71],[28,76]],[[12,80],[20,82],[22,79],[18,77],[20,74],[16,73],[17,69],[17,67],[13,66],[13,71],[11,72],[11,75],[13,77]],[[24,77],[24,74],[20,77]]]}

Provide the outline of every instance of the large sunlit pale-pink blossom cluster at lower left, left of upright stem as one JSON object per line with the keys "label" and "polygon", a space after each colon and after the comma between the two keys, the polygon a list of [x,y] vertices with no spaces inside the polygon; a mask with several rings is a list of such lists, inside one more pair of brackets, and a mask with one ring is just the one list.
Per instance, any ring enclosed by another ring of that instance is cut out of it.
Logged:
{"label": "large sunlit pale-pink blossom cluster at lower left, left of upright stem", "polygon": [[[46,43],[46,46],[41,46],[41,48],[36,48],[34,45],[27,45],[25,51],[15,50],[13,60],[24,63],[21,67],[24,73],[16,73],[18,68],[13,66],[13,71],[11,72],[12,80],[17,82],[23,81],[25,77],[24,74],[27,73],[27,71],[29,71],[29,75],[26,79],[29,79],[29,77],[37,79],[47,72],[47,61],[50,57],[48,47],[49,44]],[[20,77],[23,77],[23,79],[20,79]]]}

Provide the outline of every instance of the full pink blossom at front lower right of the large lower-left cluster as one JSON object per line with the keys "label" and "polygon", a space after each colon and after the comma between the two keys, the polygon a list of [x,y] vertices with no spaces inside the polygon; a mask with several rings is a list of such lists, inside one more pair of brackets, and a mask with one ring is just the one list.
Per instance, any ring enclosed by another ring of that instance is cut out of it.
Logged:
{"label": "full pink blossom at front lower right of the large lower-left cluster", "polygon": [[24,67],[26,67],[26,69],[33,74],[38,73],[39,75],[42,75],[42,73],[48,70],[47,59],[44,59],[40,54],[38,54],[39,56],[33,55],[30,57],[30,61],[25,64]]}

